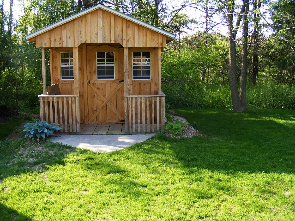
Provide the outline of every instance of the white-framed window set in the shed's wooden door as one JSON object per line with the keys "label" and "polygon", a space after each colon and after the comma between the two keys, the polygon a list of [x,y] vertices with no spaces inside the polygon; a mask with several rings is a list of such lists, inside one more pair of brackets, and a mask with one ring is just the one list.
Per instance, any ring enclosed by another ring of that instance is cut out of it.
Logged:
{"label": "white-framed window set in the shed's wooden door", "polygon": [[96,72],[97,79],[115,79],[115,53],[96,52]]}

